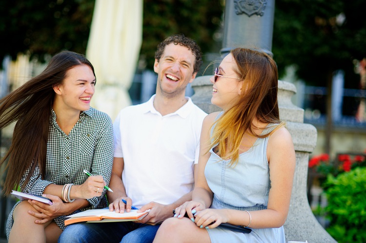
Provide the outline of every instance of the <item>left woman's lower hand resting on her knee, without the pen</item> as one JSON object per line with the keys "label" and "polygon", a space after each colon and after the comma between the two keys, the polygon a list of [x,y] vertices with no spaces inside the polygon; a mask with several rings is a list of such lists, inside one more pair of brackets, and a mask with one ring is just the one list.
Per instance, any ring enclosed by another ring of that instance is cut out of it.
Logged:
{"label": "left woman's lower hand resting on her knee, without the pen", "polygon": [[58,196],[50,194],[43,194],[42,196],[52,200],[53,204],[48,205],[36,200],[28,200],[28,203],[36,209],[36,211],[28,211],[30,215],[39,218],[39,220],[35,221],[36,224],[44,224],[59,216],[69,215],[72,213],[72,211],[68,210],[65,205],[66,203],[63,203]]}

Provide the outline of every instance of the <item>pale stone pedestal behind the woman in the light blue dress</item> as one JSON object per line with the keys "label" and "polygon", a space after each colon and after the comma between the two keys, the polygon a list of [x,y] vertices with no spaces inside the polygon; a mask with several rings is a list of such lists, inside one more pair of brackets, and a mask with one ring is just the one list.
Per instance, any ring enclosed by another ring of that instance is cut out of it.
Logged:
{"label": "pale stone pedestal behind the woman in the light blue dress", "polygon": [[[207,113],[220,111],[211,104],[211,76],[200,76],[192,83],[195,94],[192,101]],[[296,152],[296,170],[292,187],[290,209],[285,222],[287,241],[307,241],[308,243],[336,243],[336,241],[318,223],[312,213],[306,194],[307,168],[309,153],[315,148],[317,131],[310,124],[304,123],[304,110],[291,103],[291,96],[296,93],[295,85],[279,81],[278,103],[280,119],[286,121],[286,128],[291,133]]]}

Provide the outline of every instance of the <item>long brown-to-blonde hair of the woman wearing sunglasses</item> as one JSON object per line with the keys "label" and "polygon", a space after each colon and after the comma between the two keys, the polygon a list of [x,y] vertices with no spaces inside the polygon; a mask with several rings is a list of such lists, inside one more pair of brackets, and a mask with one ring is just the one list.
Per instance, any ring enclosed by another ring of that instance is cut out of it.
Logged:
{"label": "long brown-to-blonde hair of the woman wearing sunglasses", "polygon": [[215,122],[209,148],[218,144],[220,156],[225,160],[231,158],[231,166],[239,159],[245,132],[260,138],[273,132],[256,134],[254,129],[258,128],[252,124],[254,118],[263,123],[281,124],[281,121],[277,103],[278,72],[273,58],[255,49],[236,48],[230,53],[237,64],[234,72],[242,79],[242,92]]}

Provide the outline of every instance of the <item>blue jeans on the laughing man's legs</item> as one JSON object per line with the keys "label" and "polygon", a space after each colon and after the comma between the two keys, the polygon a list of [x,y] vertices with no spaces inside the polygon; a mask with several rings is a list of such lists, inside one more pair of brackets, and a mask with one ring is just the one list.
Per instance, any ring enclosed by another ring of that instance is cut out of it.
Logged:
{"label": "blue jeans on the laughing man's legs", "polygon": [[66,227],[59,243],[149,243],[153,242],[159,226],[134,222],[76,223]]}

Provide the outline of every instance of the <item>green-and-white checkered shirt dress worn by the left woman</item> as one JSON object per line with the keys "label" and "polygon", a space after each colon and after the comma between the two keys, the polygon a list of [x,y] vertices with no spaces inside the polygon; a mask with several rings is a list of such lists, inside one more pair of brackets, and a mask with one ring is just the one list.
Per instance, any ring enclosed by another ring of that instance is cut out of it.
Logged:
{"label": "green-and-white checkered shirt dress worn by the left woman", "polygon": [[[107,114],[93,108],[81,112],[79,121],[66,135],[57,124],[56,113],[52,110],[47,142],[45,177],[41,178],[40,170],[37,167],[24,192],[42,195],[45,187],[50,184],[73,183],[74,185],[81,185],[88,177],[83,173],[83,169],[88,170],[93,175],[102,175],[104,181],[108,184],[112,171],[113,151],[113,126]],[[20,185],[23,185],[29,170],[30,168],[23,175]],[[105,192],[103,190],[100,197],[87,199],[90,206],[81,210],[107,206],[104,197]],[[13,210],[8,219],[8,232],[10,232],[13,224]],[[65,217],[60,216],[54,219],[61,229],[65,228],[63,223]]]}

